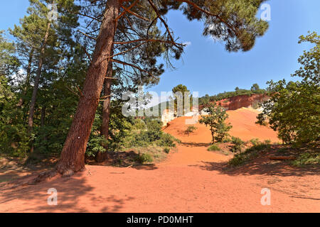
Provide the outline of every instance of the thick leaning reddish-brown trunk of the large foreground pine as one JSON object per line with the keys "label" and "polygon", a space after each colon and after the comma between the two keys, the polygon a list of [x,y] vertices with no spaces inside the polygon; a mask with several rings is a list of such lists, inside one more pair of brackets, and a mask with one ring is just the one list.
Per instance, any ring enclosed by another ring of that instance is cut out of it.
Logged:
{"label": "thick leaning reddish-brown trunk of the large foreground pine", "polygon": [[83,84],[78,108],[57,165],[57,171],[65,176],[85,170],[87,140],[90,136],[92,123],[95,120],[95,112],[110,62],[107,57],[112,52],[114,34],[117,29],[115,18],[119,14],[119,7],[119,0],[107,1],[100,34]]}

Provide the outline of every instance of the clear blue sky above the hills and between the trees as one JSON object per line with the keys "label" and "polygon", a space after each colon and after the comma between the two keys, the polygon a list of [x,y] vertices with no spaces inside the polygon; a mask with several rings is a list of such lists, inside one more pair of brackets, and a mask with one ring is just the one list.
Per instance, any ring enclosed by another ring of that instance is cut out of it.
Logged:
{"label": "clear blue sky above the hills and between the trees", "polygon": [[[177,84],[185,84],[191,91],[217,94],[233,91],[235,87],[250,89],[254,83],[266,87],[270,80],[292,79],[290,74],[299,67],[297,58],[310,46],[298,44],[299,35],[307,31],[320,33],[319,0],[270,0],[270,28],[258,38],[249,52],[229,53],[223,43],[203,37],[203,25],[190,22],[179,11],[168,15],[169,26],[176,37],[190,42],[183,60],[176,62],[176,70],[167,70],[159,85],[151,91],[169,92]],[[0,3],[0,29],[6,30],[26,14],[28,0]]]}

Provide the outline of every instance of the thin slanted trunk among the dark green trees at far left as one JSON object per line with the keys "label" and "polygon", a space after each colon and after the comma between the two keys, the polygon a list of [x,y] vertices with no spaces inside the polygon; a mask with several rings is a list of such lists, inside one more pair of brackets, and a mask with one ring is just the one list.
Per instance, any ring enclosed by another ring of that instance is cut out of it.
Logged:
{"label": "thin slanted trunk among the dark green trees at far left", "polygon": [[43,66],[43,57],[44,57],[44,53],[46,50],[50,26],[51,26],[51,23],[49,22],[48,26],[47,26],[47,30],[46,30],[46,35],[43,39],[43,44],[41,47],[41,53],[40,53],[39,62],[38,62],[38,70],[37,70],[36,80],[34,82],[34,87],[33,87],[33,93],[32,93],[30,111],[29,111],[29,118],[28,118],[28,132],[29,133],[32,132],[32,128],[33,128],[33,118],[34,118],[34,111],[35,111],[35,107],[36,107],[36,98],[37,98],[37,93],[38,93],[38,88],[39,88],[39,81],[40,81],[40,76],[41,76],[41,71],[42,71],[42,66]]}

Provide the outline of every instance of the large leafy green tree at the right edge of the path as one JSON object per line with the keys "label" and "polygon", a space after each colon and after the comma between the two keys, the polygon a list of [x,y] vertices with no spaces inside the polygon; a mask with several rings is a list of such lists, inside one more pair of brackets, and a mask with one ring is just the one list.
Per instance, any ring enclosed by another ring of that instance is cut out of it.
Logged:
{"label": "large leafy green tree at the right edge of the path", "polygon": [[301,81],[268,82],[271,99],[263,104],[257,123],[269,121],[284,143],[313,143],[320,139],[319,39],[316,33],[300,37],[299,43],[315,45],[299,57],[302,67],[292,76],[301,77]]}

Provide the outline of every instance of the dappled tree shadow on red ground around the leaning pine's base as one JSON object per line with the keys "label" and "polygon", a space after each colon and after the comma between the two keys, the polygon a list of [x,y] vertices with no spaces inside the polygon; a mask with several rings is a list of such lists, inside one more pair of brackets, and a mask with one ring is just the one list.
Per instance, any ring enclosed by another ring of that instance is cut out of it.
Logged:
{"label": "dappled tree shadow on red ground around the leaning pine's base", "polygon": [[[68,178],[58,176],[48,182],[32,186],[1,189],[0,210],[11,212],[10,204],[18,200],[18,207],[14,207],[15,212],[118,212],[126,201],[134,199],[133,197],[117,199],[113,194],[97,196],[92,192],[95,188],[87,184],[83,175],[84,172]],[[48,205],[47,199],[50,196],[47,193],[48,189],[57,190],[57,206]],[[101,204],[105,206],[100,209],[95,207],[95,204],[97,207]]]}

